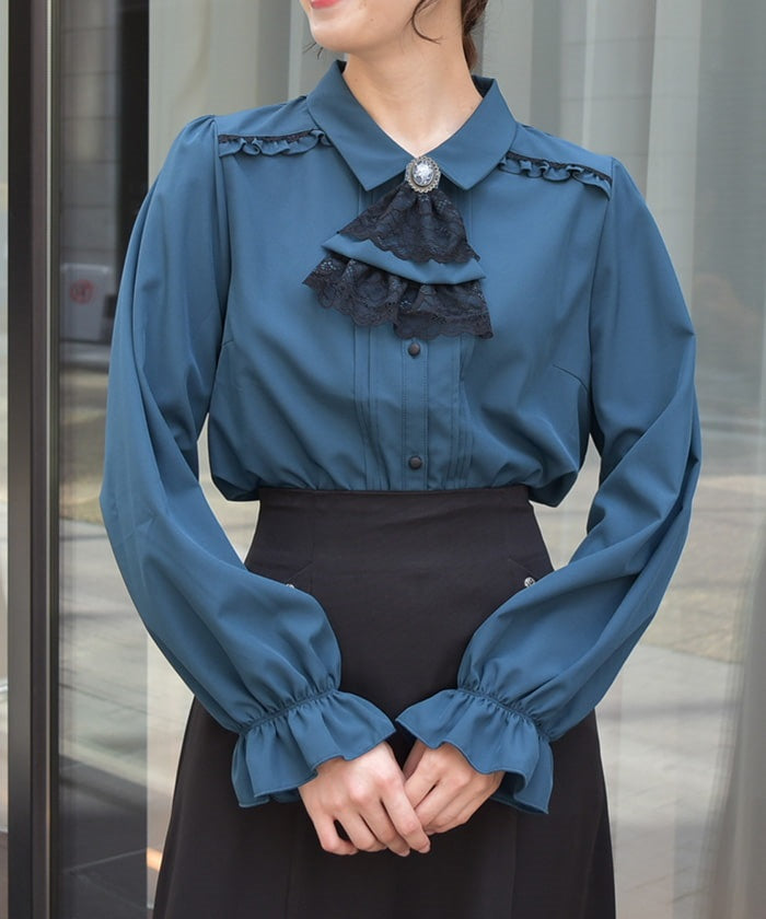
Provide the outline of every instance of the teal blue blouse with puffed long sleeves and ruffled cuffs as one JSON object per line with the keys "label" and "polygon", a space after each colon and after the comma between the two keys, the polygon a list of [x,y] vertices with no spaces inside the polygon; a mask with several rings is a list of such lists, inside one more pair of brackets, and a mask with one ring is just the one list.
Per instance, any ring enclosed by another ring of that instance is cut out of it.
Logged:
{"label": "teal blue blouse with puffed long sleeves and ruffled cuffs", "polygon": [[[305,97],[197,118],[175,140],[119,291],[104,521],[151,636],[239,734],[240,803],[297,801],[318,764],[361,755],[394,724],[338,688],[317,601],[251,573],[232,548],[198,481],[206,418],[214,482],[235,501],[262,486],[524,484],[555,505],[592,438],[600,484],[569,563],[484,621],[456,686],[396,718],[479,771],[504,771],[496,800],[545,812],[550,742],[606,691],[686,536],[699,470],[693,329],[625,167],[518,123],[486,78],[478,108],[430,153],[477,258],[407,261],[345,236],[411,156],[343,68]],[[414,342],[391,322],[323,309],[303,280],[328,253],[415,284],[478,281],[491,336]]]}

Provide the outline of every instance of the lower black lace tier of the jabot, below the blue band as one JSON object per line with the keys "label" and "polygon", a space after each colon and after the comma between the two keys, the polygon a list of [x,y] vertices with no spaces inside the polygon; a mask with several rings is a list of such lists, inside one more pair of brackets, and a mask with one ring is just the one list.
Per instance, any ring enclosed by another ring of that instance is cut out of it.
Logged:
{"label": "lower black lace tier of the jabot, below the blue band", "polygon": [[399,338],[428,340],[464,333],[492,335],[487,302],[478,280],[420,283],[374,265],[330,253],[305,283],[320,303],[350,316],[359,326],[393,325]]}

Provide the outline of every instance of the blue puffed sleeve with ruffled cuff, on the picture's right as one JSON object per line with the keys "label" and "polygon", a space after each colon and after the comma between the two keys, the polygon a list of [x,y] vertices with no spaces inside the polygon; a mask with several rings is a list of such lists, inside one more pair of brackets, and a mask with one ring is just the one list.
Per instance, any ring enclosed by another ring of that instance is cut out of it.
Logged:
{"label": "blue puffed sleeve with ruffled cuff, on the picture's right", "polygon": [[625,171],[594,263],[589,391],[600,485],[568,565],[496,609],[472,637],[457,686],[396,721],[449,742],[495,799],[545,812],[550,741],[600,701],[654,615],[684,544],[699,473],[694,334],[660,233]]}

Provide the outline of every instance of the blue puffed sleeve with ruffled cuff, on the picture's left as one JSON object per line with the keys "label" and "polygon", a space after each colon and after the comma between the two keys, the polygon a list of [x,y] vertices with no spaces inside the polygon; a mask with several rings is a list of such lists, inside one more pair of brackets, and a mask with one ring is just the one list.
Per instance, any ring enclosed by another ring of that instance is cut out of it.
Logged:
{"label": "blue puffed sleeve with ruffled cuff, on the picture's left", "polygon": [[334,756],[393,733],[340,691],[320,604],[249,572],[198,481],[225,319],[230,249],[216,121],[176,139],[139,213],[117,305],[101,495],[120,571],[149,632],[189,688],[239,733],[242,805],[295,800]]}

